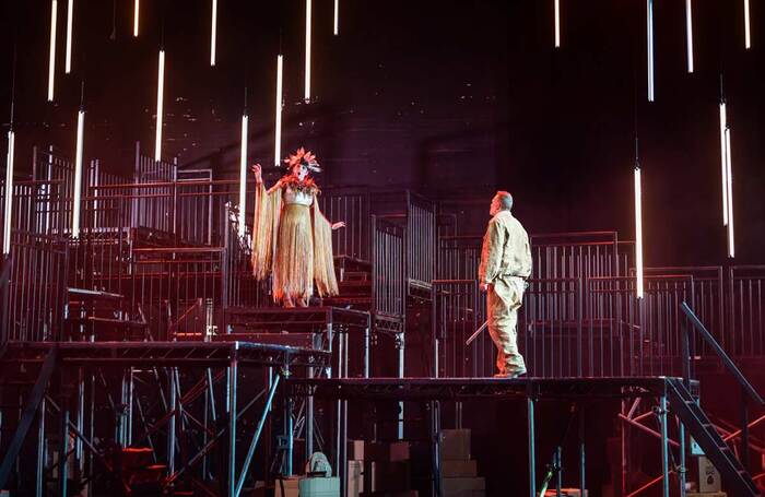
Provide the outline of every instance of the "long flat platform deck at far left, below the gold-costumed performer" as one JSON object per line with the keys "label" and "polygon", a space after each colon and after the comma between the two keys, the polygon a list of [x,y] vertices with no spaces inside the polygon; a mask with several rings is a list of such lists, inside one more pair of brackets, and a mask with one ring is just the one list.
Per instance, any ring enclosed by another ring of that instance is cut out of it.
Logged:
{"label": "long flat platform deck at far left, below the gold-costumed performer", "polygon": [[331,353],[251,342],[11,342],[0,362],[43,362],[54,348],[59,360],[82,366],[327,366]]}

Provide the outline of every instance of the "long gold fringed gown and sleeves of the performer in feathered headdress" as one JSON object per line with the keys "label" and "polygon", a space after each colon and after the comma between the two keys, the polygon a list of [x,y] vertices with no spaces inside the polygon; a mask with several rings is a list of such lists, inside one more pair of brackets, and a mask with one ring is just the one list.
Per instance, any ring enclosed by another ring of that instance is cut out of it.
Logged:
{"label": "long gold fringed gown and sleeves of the performer in feathered headdress", "polygon": [[321,214],[316,194],[310,206],[286,204],[282,194],[281,181],[268,191],[258,185],[252,226],[255,277],[260,281],[272,274],[276,303],[285,294],[293,300],[307,299],[314,294],[314,282],[319,296],[338,295],[332,226]]}

